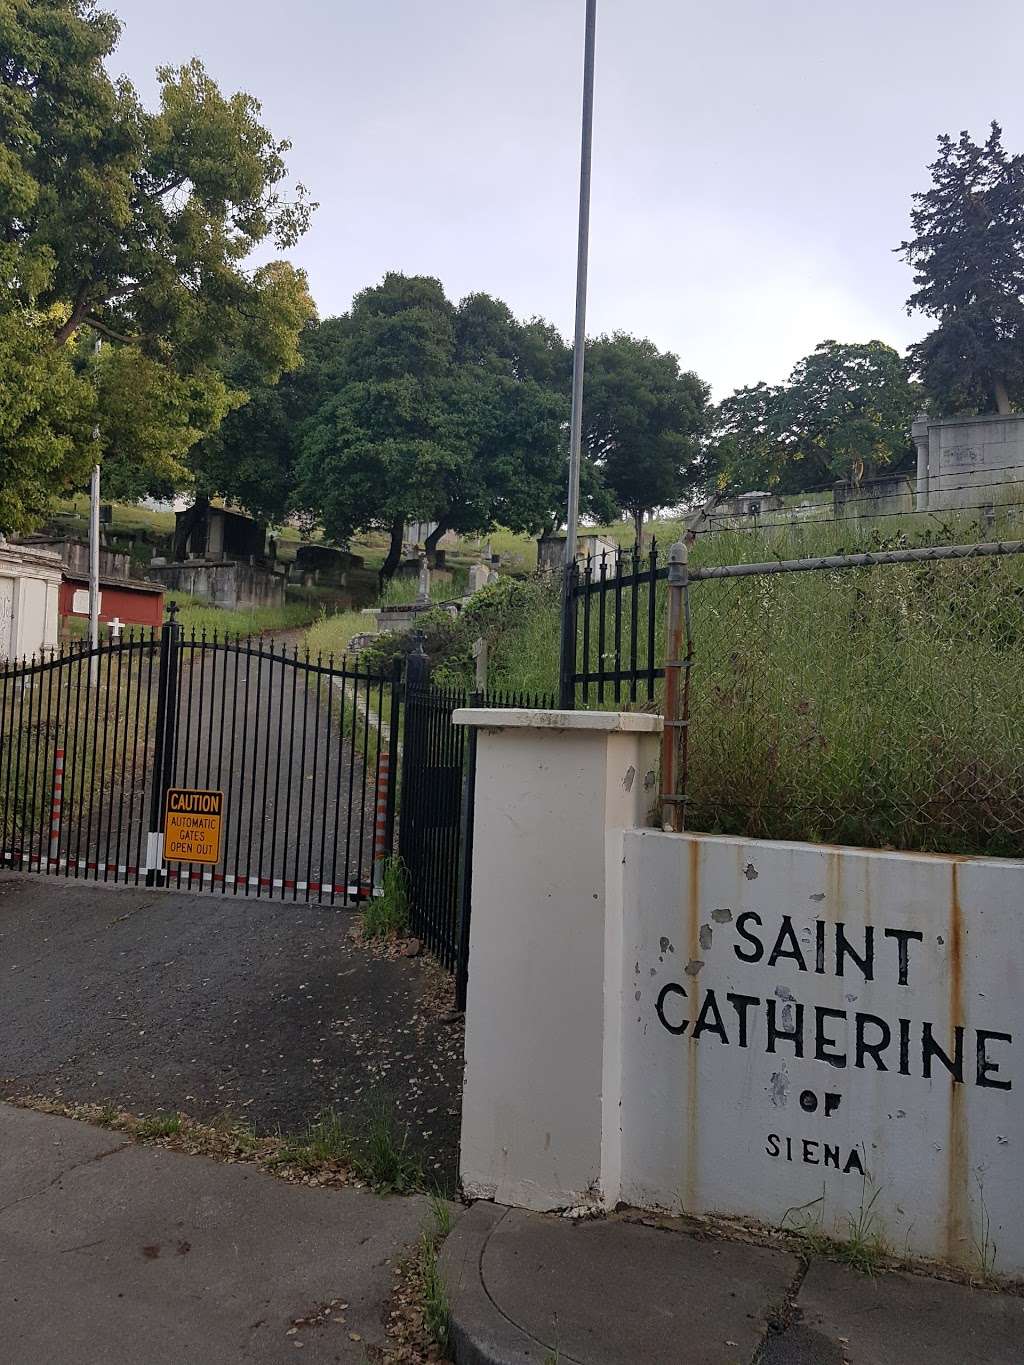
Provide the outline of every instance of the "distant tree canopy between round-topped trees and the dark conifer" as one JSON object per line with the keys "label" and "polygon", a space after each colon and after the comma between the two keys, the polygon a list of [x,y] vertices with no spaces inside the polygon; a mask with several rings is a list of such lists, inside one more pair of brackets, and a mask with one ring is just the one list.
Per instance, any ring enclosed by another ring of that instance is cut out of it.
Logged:
{"label": "distant tree canopy between round-topped trees and the dark conifer", "polygon": [[897,468],[911,455],[918,393],[883,341],[822,341],[786,384],[737,389],[714,412],[721,489],[799,493]]}

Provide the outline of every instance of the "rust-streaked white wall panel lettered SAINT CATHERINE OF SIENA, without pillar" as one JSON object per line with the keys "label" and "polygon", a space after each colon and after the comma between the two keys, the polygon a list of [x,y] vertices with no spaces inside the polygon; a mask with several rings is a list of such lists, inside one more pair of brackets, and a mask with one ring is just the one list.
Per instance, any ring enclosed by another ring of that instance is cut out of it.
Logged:
{"label": "rust-streaked white wall panel lettered SAINT CATHERINE OF SIENA, without pillar", "polygon": [[624,856],[606,1197],[1024,1271],[1024,863],[649,830]]}

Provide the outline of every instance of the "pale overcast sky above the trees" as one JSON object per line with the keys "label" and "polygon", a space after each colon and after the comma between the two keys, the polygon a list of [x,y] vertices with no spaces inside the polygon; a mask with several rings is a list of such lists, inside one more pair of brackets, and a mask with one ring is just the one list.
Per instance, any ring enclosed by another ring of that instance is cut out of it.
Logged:
{"label": "pale overcast sky above the trees", "polygon": [[[319,201],[321,315],[385,270],[572,328],[583,0],[108,0],[112,67],[201,56]],[[935,135],[1024,149],[1020,0],[599,0],[588,332],[715,397],[814,345],[924,330],[892,248]]]}

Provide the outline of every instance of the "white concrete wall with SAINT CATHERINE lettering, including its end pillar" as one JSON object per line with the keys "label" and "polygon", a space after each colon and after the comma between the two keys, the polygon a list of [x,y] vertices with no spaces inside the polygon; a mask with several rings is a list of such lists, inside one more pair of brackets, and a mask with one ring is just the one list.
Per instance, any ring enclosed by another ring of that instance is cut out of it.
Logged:
{"label": "white concrete wall with SAINT CATHERINE lettering, including its end pillar", "polygon": [[461,1177],[1024,1274],[1024,863],[662,834],[661,722],[479,726]]}

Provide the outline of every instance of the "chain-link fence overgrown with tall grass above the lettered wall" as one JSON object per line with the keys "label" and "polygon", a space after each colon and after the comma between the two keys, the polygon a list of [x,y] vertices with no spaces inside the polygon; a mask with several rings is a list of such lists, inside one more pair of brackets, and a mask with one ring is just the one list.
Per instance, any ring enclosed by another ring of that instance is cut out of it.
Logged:
{"label": "chain-link fence overgrown with tall grass above the lettered wall", "polygon": [[687,829],[1024,856],[1024,554],[1008,550],[696,571]]}

